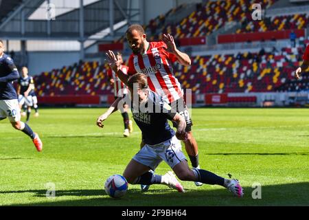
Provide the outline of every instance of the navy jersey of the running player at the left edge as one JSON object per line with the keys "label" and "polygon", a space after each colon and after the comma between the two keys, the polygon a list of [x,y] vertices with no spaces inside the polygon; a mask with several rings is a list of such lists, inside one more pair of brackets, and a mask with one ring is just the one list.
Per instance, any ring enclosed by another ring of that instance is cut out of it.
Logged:
{"label": "navy jersey of the running player at the left edge", "polygon": [[19,72],[10,56],[0,58],[0,100],[17,99],[13,81],[19,78]]}

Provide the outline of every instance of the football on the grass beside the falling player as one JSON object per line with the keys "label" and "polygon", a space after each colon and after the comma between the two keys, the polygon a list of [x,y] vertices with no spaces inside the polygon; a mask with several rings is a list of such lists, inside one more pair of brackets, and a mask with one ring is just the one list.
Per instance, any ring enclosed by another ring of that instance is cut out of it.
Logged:
{"label": "football on the grass beside the falling player", "polygon": [[128,181],[122,175],[112,175],[106,179],[104,184],[105,192],[113,198],[120,198],[128,190]]}

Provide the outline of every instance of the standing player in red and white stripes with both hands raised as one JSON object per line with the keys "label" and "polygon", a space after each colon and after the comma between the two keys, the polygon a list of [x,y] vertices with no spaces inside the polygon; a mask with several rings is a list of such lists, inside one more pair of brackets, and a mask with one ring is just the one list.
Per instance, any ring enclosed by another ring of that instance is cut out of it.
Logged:
{"label": "standing player in red and white stripes with both hands raised", "polygon": [[[133,52],[128,59],[128,75],[122,73],[117,66],[117,58],[112,51],[106,56],[110,61],[111,68],[117,73],[122,82],[127,83],[128,76],[143,73],[148,76],[148,87],[165,98],[172,108],[183,115],[187,122],[188,133],[185,141],[185,149],[190,157],[192,166],[198,165],[198,145],[192,135],[192,120],[183,100],[183,91],[179,81],[176,79],[172,69],[172,63],[177,61],[181,65],[191,65],[190,57],[177,50],[174,39],[170,34],[163,35],[163,41],[148,42],[146,34],[141,25],[130,25],[126,31],[128,44]],[[182,105],[182,108],[179,108]],[[142,144],[141,144],[142,145]],[[196,182],[196,186],[201,184]]]}

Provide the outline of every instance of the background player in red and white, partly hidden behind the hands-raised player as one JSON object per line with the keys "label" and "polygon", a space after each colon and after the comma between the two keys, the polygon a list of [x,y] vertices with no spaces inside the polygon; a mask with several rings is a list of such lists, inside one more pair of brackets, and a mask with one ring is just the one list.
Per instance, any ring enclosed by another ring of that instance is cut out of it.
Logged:
{"label": "background player in red and white, partly hidden behind the hands-raised player", "polygon": [[[122,69],[122,72],[124,74],[127,74],[128,67],[124,64],[124,60],[122,58],[122,54],[117,53],[117,58],[119,62],[119,68]],[[114,86],[114,96],[115,100],[118,97],[123,97],[124,94],[128,94],[128,88],[122,81],[117,77],[115,72],[112,69],[109,69],[108,71],[108,77],[110,83]],[[122,118],[124,119],[124,137],[130,136],[130,133],[133,132],[133,122],[129,119],[128,116],[128,104],[124,104],[123,109],[119,109],[122,113]]]}

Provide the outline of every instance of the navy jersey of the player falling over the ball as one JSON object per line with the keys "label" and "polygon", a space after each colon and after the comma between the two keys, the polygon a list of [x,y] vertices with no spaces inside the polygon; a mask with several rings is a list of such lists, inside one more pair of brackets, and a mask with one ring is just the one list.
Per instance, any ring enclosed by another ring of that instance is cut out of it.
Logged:
{"label": "navy jersey of the player falling over the ball", "polygon": [[[140,109],[137,111],[133,103],[131,105],[133,118],[141,129],[145,144],[155,145],[170,140],[175,132],[168,124],[168,120],[172,120],[176,113],[172,113],[168,103],[152,91],[149,91],[146,103],[146,111],[140,111]],[[155,109],[160,111],[157,112]]]}

